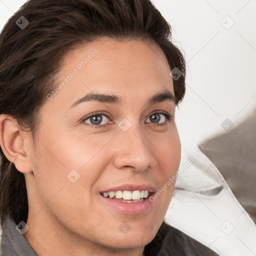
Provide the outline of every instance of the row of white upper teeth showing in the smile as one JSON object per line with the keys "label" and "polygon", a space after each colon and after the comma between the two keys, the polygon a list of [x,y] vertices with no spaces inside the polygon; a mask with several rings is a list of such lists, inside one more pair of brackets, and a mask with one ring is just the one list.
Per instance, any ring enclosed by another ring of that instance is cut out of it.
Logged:
{"label": "row of white upper teeth showing in the smile", "polygon": [[103,192],[103,195],[107,197],[109,195],[110,198],[123,198],[124,200],[138,200],[140,198],[146,198],[148,196],[147,190],[134,190],[134,191],[128,191],[128,190],[118,190],[118,191],[109,191],[109,192]]}

